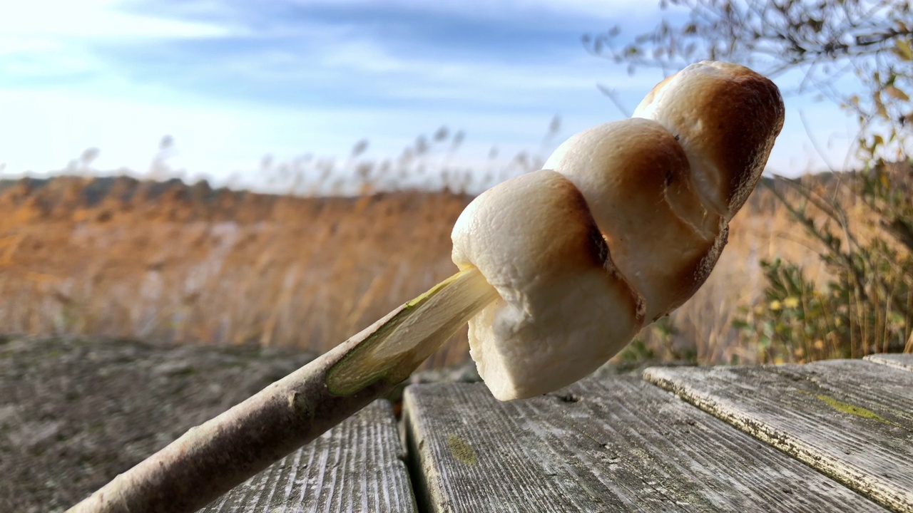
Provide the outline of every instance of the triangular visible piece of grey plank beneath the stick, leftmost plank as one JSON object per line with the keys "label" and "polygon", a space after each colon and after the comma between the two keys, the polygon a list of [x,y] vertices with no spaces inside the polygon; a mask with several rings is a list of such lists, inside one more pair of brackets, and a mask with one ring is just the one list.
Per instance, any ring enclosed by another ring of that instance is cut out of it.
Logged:
{"label": "triangular visible piece of grey plank beneath the stick, leftmost plank", "polygon": [[201,511],[414,512],[404,458],[393,408],[375,401]]}

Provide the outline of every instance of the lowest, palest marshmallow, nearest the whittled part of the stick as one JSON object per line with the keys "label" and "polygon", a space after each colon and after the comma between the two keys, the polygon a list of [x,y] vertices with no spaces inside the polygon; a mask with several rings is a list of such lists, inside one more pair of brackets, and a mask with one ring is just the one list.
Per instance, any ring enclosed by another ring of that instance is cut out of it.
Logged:
{"label": "lowest, palest marshmallow, nearest the whittled part of the stick", "polygon": [[453,260],[500,299],[469,321],[478,372],[500,400],[556,390],[595,371],[645,319],[615,270],[583,194],[540,170],[479,195],[456,220]]}

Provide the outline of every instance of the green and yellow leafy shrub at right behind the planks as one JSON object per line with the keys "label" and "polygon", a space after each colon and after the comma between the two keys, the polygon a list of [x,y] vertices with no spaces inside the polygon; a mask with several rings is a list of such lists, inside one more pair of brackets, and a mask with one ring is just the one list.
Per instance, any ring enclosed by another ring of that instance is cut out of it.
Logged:
{"label": "green and yellow leafy shrub at right behind the planks", "polygon": [[[863,209],[852,218],[847,199],[841,202],[798,181],[778,180],[788,184],[789,196],[771,186],[796,222],[822,243],[820,257],[830,277],[816,287],[803,267],[779,259],[761,262],[764,303],[742,311],[733,323],[743,342],[757,341],[759,361],[913,351],[913,246],[908,245],[913,209],[907,194],[913,168],[907,176],[900,166],[893,168],[893,173],[880,166],[846,175],[848,197]],[[809,205],[824,219],[815,221]]]}

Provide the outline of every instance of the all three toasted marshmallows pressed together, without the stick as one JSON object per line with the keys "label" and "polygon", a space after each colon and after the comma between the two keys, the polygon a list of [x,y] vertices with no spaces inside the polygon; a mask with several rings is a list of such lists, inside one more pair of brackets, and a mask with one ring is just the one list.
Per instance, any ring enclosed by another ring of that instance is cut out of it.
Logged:
{"label": "all three toasted marshmallows pressed together, without the stick", "polygon": [[469,204],[453,259],[498,290],[469,320],[472,358],[495,397],[576,382],[690,298],[782,123],[769,79],[700,62],[658,84],[634,118],[572,136],[545,169]]}

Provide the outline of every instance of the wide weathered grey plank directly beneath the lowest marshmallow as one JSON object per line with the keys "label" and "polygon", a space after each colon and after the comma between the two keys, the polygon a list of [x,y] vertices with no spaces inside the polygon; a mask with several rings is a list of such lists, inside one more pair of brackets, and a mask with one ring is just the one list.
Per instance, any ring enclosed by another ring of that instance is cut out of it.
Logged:
{"label": "wide weathered grey plank directly beneath the lowest marshmallow", "polygon": [[511,403],[412,385],[404,411],[426,511],[885,511],[636,376]]}

